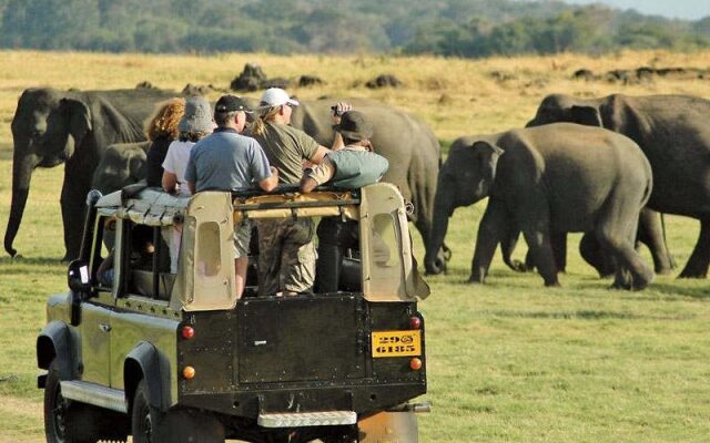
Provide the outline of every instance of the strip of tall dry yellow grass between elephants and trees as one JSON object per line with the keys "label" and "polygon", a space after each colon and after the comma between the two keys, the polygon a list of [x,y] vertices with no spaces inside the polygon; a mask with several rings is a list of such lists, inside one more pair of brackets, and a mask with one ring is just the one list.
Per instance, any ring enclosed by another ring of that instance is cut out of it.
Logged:
{"label": "strip of tall dry yellow grass between elephants and trees", "polygon": [[[227,90],[245,63],[261,64],[270,78],[322,78],[317,87],[292,87],[304,99],[322,95],[366,96],[382,100],[422,116],[444,141],[463,134],[490,133],[521,126],[540,100],[555,92],[598,96],[683,93],[710,95],[710,80],[657,79],[651,83],[622,85],[571,80],[581,68],[601,73],[640,66],[708,69],[710,51],[674,54],[660,51],[621,52],[606,58],[559,54],[544,58],[493,58],[478,61],[447,58],[322,56],[270,54],[145,55],[59,52],[0,52],[0,140],[10,141],[9,126],[17,97],[26,87],[59,89],[133,87],[142,81],[182,90],[187,83],[212,84]],[[404,87],[368,90],[364,83],[392,73]],[[217,96],[215,92],[213,95]],[[252,94],[252,95],[258,95]]]}

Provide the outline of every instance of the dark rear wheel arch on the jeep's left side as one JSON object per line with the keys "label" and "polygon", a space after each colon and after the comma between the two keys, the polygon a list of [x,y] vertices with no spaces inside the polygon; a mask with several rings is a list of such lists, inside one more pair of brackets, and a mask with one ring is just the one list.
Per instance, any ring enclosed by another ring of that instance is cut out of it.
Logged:
{"label": "dark rear wheel arch on the jeep's left side", "polygon": [[129,414],[133,409],[133,395],[138,384],[143,379],[148,387],[149,403],[160,411],[166,411],[172,405],[170,361],[146,341],[133,348],[123,363],[123,389]]}

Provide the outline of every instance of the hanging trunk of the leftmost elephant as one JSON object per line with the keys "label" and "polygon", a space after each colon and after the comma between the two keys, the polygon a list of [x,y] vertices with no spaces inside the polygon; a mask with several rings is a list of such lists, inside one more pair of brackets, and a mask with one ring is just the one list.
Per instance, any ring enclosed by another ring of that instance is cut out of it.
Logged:
{"label": "hanging trunk of the leftmost elephant", "polygon": [[32,169],[38,165],[36,155],[20,154],[14,150],[12,158],[12,203],[10,204],[10,218],[8,219],[8,228],[4,231],[4,250],[14,257],[18,253],[12,243],[20,229],[24,205],[30,192],[30,179],[32,178]]}

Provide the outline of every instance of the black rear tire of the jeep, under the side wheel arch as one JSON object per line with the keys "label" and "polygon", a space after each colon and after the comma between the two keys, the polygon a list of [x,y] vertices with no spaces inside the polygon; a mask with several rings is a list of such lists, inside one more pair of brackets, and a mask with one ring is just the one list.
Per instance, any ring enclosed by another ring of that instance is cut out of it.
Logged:
{"label": "black rear tire of the jeep, under the side wheel arch", "polygon": [[133,443],[224,443],[224,426],[214,416],[187,409],[160,412],[148,401],[141,380],[131,411]]}

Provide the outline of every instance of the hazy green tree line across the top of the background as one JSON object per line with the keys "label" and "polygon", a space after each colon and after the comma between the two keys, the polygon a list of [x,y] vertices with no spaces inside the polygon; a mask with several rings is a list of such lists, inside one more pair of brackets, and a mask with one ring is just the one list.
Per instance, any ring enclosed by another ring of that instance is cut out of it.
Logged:
{"label": "hazy green tree line across the top of the background", "polygon": [[0,0],[0,14],[6,49],[479,58],[710,47],[710,17],[549,0]]}

